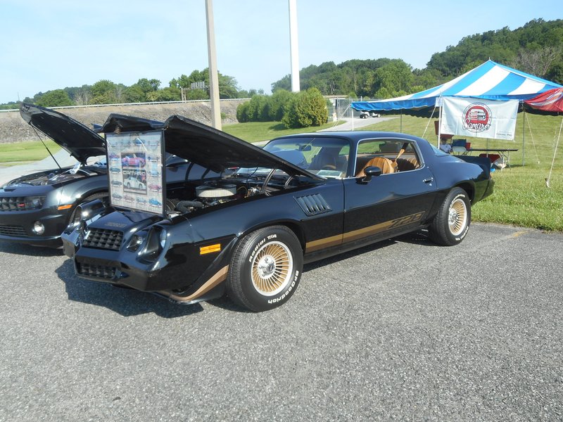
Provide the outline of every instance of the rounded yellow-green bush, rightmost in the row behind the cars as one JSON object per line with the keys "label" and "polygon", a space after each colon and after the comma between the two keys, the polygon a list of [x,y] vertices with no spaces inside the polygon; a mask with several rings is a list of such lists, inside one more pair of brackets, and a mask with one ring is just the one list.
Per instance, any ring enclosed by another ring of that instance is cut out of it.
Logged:
{"label": "rounded yellow-green bush, rightmost in the row behind the cars", "polygon": [[281,122],[288,128],[320,126],[329,119],[329,110],[317,88],[301,91],[289,104]]}

